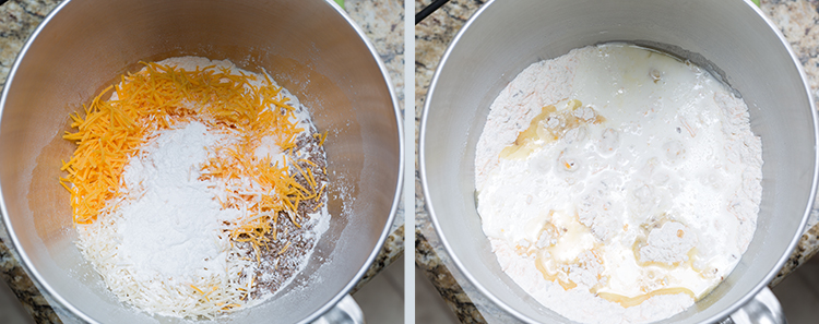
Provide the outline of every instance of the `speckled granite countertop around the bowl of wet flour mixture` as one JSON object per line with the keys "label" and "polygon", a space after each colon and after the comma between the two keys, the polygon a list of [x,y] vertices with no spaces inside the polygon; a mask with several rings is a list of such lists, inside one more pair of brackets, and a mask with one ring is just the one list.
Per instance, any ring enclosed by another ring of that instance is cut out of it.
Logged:
{"label": "speckled granite countertop around the bowl of wet flour mixture", "polygon": [[[416,1],[416,12],[431,3]],[[451,0],[415,27],[415,107],[417,125],[435,69],[452,38],[485,0]],[[810,89],[819,97],[819,7],[818,0],[762,0],[762,11],[780,27],[805,67]],[[417,156],[417,155],[416,155]],[[417,160],[416,160],[417,166]],[[416,168],[417,170],[417,168]],[[416,172],[415,262],[463,323],[519,323],[466,280],[444,251],[425,207]],[[819,204],[798,247],[771,281],[774,286],[819,251]]]}

